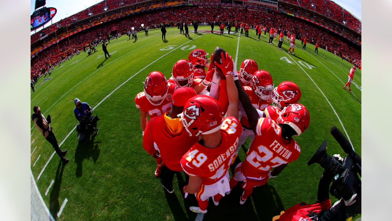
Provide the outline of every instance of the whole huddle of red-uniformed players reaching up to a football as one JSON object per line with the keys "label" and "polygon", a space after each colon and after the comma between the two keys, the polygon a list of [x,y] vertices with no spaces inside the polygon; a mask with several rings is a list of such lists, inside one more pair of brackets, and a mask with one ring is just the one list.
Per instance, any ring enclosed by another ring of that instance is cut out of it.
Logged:
{"label": "whole huddle of red-uniformed players reaching up to a football", "polygon": [[[240,204],[245,203],[254,187],[298,158],[301,149],[292,136],[310,122],[294,82],[274,87],[269,72],[258,70],[252,59],[245,59],[237,72],[227,52],[221,53],[220,63],[214,54],[209,63],[207,55],[193,50],[189,60],[174,64],[169,81],[151,72],[135,98],[143,148],[158,164],[155,176],[172,193],[174,173],[184,171],[183,193],[195,194],[199,206],[190,210],[198,213],[207,212],[209,197],[217,206],[238,182],[244,190]],[[247,157],[229,179],[229,167],[249,136]]]}

